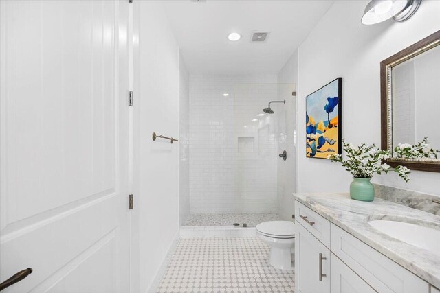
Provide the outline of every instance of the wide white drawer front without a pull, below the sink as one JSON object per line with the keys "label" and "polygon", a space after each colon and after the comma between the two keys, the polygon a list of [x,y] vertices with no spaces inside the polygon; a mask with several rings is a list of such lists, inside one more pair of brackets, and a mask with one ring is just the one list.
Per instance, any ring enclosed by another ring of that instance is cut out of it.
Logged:
{"label": "wide white drawer front without a pull, below the sink", "polygon": [[428,283],[335,224],[331,224],[331,252],[377,292],[429,292]]}

